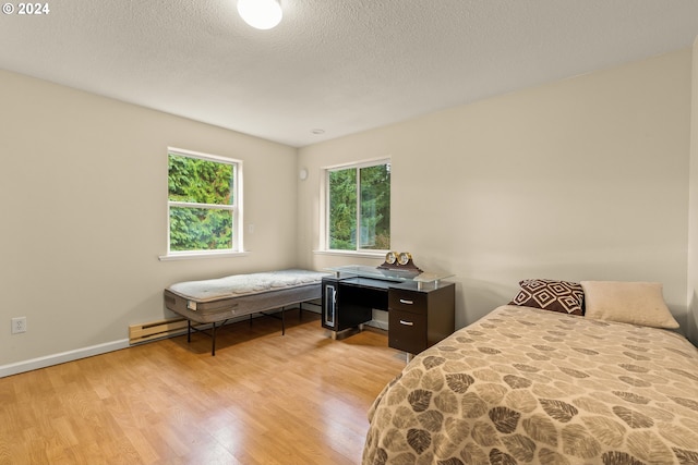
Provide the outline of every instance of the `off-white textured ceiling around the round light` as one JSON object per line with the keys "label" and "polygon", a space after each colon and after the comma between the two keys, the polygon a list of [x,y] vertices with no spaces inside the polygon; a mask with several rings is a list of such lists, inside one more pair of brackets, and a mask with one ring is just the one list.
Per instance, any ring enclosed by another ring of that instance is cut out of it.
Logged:
{"label": "off-white textured ceiling around the round light", "polygon": [[47,2],[0,15],[0,68],[296,147],[698,36],[697,0],[281,0],[270,30],[234,0]]}

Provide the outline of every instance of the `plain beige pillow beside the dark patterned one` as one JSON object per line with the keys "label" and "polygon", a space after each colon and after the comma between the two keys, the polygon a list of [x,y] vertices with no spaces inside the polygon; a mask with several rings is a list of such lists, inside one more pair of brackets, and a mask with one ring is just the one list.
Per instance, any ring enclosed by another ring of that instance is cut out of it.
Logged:
{"label": "plain beige pillow beside the dark patterned one", "polygon": [[581,281],[585,316],[653,328],[678,328],[659,282]]}

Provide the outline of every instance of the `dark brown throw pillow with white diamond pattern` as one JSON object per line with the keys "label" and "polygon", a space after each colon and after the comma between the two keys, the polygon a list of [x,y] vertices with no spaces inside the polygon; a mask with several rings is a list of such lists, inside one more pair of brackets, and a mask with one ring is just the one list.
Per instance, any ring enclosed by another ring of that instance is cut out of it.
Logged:
{"label": "dark brown throw pillow with white diamond pattern", "polygon": [[541,308],[562,314],[583,315],[585,291],[569,281],[531,279],[519,281],[521,289],[509,305]]}

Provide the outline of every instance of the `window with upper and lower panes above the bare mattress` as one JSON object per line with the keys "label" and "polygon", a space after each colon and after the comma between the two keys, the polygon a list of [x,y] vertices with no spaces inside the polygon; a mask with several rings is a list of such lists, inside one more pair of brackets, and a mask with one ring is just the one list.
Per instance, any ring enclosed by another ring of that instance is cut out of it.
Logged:
{"label": "window with upper and lower panes above the bare mattress", "polygon": [[168,255],[239,250],[240,164],[168,151]]}

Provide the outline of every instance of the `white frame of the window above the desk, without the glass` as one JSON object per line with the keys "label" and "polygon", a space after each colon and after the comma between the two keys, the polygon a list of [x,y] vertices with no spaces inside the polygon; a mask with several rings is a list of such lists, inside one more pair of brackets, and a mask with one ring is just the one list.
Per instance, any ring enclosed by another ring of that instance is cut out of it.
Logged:
{"label": "white frame of the window above the desk, without the glass", "polygon": [[[392,164],[390,157],[383,157],[370,160],[363,160],[353,163],[344,163],[344,164],[335,164],[330,167],[323,168],[323,178],[322,178],[322,218],[321,218],[321,237],[322,244],[320,244],[320,249],[316,253],[326,254],[326,255],[350,255],[358,257],[383,257],[389,249],[377,249],[377,248],[359,248],[359,242],[357,241],[357,248],[353,250],[345,250],[338,248],[329,248],[329,173],[333,171],[341,171],[348,169],[360,170],[361,168],[370,168],[378,164]],[[357,176],[357,188],[360,191],[360,176]],[[390,179],[390,197],[393,192],[393,181]],[[390,210],[393,206],[390,205]],[[392,213],[390,213],[392,217]],[[357,193],[357,224],[361,224],[361,195],[360,192]],[[392,233],[392,231],[390,231]]]}

